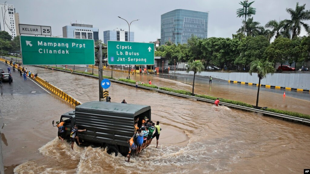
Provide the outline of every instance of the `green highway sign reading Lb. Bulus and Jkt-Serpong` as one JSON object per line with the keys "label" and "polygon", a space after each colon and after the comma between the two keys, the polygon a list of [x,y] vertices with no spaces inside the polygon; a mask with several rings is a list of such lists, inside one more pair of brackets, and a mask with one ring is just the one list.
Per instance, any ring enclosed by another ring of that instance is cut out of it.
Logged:
{"label": "green highway sign reading Lb. Bulus and Jkt-Serpong", "polygon": [[154,43],[108,41],[109,65],[153,65]]}

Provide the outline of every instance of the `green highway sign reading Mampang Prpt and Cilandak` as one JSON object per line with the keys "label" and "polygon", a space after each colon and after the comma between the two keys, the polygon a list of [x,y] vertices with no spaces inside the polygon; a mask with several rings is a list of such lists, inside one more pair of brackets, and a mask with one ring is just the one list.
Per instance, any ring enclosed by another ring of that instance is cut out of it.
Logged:
{"label": "green highway sign reading Mampang Prpt and Cilandak", "polygon": [[92,39],[20,36],[24,65],[94,65]]}

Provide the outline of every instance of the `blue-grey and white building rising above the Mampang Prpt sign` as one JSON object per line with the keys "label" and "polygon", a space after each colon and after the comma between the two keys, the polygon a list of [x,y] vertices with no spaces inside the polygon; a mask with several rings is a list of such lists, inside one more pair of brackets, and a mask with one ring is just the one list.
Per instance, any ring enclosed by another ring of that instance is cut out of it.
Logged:
{"label": "blue-grey and white building rising above the Mampang Prpt sign", "polygon": [[62,36],[65,38],[94,39],[99,40],[99,28],[93,25],[71,24],[62,28]]}

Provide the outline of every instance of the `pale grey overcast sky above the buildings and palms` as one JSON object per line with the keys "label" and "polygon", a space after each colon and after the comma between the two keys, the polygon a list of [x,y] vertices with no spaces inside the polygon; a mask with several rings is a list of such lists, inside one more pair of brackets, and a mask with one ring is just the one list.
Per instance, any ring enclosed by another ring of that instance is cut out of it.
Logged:
{"label": "pale grey overcast sky above the buildings and palms", "polygon": [[[4,3],[5,1],[0,0]],[[99,28],[99,39],[103,31],[116,28],[128,31],[126,21],[137,20],[131,24],[136,42],[156,41],[160,38],[160,16],[175,9],[209,12],[208,37],[232,37],[241,27],[241,18],[236,10],[242,8],[240,0],[7,0],[19,13],[21,24],[51,26],[52,35],[62,35],[62,27],[70,23],[92,24]],[[252,2],[250,0],[250,2]],[[265,25],[269,20],[290,19],[286,8],[295,9],[309,0],[256,0],[254,20]],[[310,21],[306,21],[310,24]],[[16,26],[18,27],[18,26]],[[303,30],[301,35],[305,35]]]}

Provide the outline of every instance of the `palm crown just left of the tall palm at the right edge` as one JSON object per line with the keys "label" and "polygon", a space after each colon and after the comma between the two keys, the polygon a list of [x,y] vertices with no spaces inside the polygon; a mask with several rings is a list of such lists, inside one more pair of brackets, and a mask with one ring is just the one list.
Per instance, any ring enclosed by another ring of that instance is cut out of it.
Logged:
{"label": "palm crown just left of the tall palm at the right edge", "polygon": [[285,24],[286,20],[281,20],[277,22],[276,20],[269,21],[265,27],[271,28],[270,32],[268,33],[268,40],[270,41],[272,37],[275,36],[275,39],[277,39],[279,36],[282,37],[290,37],[290,34],[288,33],[289,30],[285,30]]}

